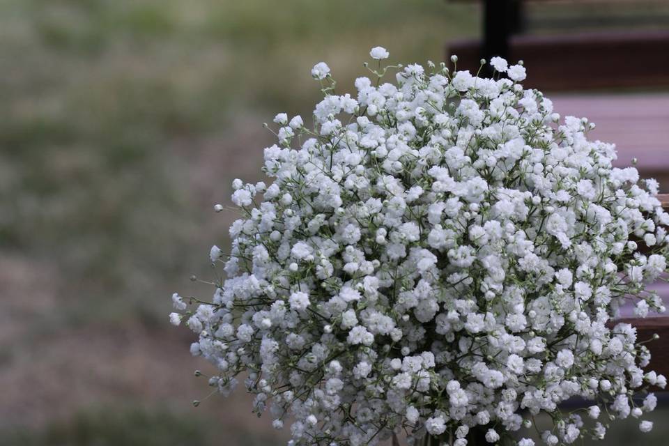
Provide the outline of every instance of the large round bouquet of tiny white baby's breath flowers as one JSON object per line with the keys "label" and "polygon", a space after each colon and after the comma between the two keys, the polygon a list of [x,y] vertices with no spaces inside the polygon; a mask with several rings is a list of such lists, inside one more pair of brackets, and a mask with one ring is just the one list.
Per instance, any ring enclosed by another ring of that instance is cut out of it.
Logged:
{"label": "large round bouquet of tiny white baby's breath flowers", "polygon": [[[173,296],[209,384],[227,394],[241,376],[295,446],[554,446],[629,416],[651,429],[666,378],[615,317],[664,311],[646,290],[669,257],[656,181],[523,89],[522,63],[495,57],[484,79],[371,57],[353,95],[314,66],[313,128],[278,114],[273,182],[233,182],[242,217],[229,254],[211,249],[226,275],[213,300]],[[572,397],[590,407],[562,410]]]}

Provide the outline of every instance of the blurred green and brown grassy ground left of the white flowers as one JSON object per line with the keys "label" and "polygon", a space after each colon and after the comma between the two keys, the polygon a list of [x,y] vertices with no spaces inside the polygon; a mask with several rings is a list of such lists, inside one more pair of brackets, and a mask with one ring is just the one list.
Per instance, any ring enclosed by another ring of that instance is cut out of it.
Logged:
{"label": "blurred green and brown grassy ground left of the white flowers", "polygon": [[211,206],[261,178],[263,122],[311,116],[314,63],[350,90],[370,47],[441,61],[479,17],[443,0],[0,0],[0,446],[284,444],[241,392],[190,406],[206,366],[169,295],[210,293],[187,278],[213,275],[235,217]]}

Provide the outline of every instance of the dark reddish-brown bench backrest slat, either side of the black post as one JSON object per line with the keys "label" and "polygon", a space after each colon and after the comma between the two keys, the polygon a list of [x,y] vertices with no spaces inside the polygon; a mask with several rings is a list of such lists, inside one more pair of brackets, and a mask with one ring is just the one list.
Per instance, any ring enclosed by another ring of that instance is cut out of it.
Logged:
{"label": "dark reddish-brown bench backrest slat, either side of the black post", "polygon": [[[526,87],[576,91],[669,86],[669,57],[659,56],[669,53],[669,31],[511,36],[507,50],[509,61],[525,61]],[[471,72],[486,57],[479,40],[453,42],[448,52],[458,56],[459,70]]]}

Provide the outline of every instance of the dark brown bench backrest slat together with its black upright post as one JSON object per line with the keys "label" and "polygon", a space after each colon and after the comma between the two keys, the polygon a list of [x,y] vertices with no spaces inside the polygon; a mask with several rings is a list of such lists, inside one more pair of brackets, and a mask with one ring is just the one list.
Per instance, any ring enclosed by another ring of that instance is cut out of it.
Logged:
{"label": "dark brown bench backrest slat together with its black upright post", "polygon": [[[530,36],[522,33],[523,6],[528,1],[481,0],[482,39],[449,45],[448,53],[458,56],[458,68],[477,72],[480,59],[502,56],[509,61],[525,61],[531,69],[525,85],[541,90],[669,86],[666,27],[658,31],[626,27],[624,31]],[[599,3],[615,7],[608,4],[610,0]],[[490,70],[484,67],[483,75],[491,75]]]}

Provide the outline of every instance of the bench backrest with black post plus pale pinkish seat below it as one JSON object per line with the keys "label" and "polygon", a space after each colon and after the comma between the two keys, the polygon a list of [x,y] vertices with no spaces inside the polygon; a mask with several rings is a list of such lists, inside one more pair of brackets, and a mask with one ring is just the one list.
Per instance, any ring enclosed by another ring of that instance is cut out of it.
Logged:
{"label": "bench backrest with black post plus pale pinkish seat below it", "polygon": [[[528,5],[567,10],[592,3],[602,14],[643,5],[631,0],[452,1],[479,3],[483,14],[480,40],[449,45],[447,55],[458,56],[459,70],[477,72],[480,59],[489,61],[492,56],[512,63],[523,60],[528,67],[525,87],[546,91],[562,116],[585,116],[596,123],[591,137],[617,145],[618,167],[637,158],[641,176],[656,178],[661,192],[669,192],[669,23],[654,31],[626,26],[615,32],[529,35],[524,13]],[[649,3],[661,6],[668,1],[645,1]],[[669,22],[667,17],[663,20]],[[482,75],[491,75],[486,69],[490,67],[484,67]],[[658,88],[665,92],[645,91]],[[605,89],[605,95],[592,93]],[[561,91],[569,93],[560,95]]]}

